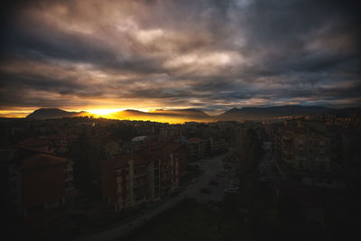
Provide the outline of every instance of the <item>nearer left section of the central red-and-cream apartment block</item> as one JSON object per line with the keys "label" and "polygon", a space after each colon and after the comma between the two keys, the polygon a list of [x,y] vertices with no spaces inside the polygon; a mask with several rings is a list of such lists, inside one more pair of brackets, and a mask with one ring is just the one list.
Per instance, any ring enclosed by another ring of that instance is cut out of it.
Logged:
{"label": "nearer left section of the central red-and-cream apartment block", "polygon": [[[116,210],[159,198],[159,164],[140,154],[122,154],[101,163],[103,199]],[[154,175],[158,174],[158,179]],[[154,183],[157,180],[158,183]]]}

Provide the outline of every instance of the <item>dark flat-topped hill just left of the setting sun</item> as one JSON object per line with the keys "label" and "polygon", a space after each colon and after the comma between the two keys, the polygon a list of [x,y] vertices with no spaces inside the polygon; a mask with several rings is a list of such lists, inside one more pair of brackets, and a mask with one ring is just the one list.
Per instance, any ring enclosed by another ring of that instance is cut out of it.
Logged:
{"label": "dark flat-topped hill just left of the setting sun", "polygon": [[56,119],[61,117],[87,116],[87,112],[69,112],[58,108],[40,108],[26,116],[28,119]]}

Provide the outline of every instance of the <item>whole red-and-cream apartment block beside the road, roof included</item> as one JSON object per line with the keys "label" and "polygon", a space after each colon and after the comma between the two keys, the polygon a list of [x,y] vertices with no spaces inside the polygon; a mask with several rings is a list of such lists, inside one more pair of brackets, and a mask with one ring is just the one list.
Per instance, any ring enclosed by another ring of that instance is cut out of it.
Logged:
{"label": "whole red-and-cream apartment block beside the road, roof included", "polygon": [[101,163],[103,199],[116,210],[156,201],[180,186],[187,154],[180,144],[150,144]]}

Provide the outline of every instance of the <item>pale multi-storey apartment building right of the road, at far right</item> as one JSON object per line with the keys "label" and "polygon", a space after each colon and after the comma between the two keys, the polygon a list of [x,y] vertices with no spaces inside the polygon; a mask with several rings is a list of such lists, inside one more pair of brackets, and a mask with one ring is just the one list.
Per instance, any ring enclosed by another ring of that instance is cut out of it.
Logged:
{"label": "pale multi-storey apartment building right of the road, at far right", "polygon": [[347,176],[333,162],[332,136],[309,126],[280,128],[275,134],[275,154],[283,179],[319,188],[347,188]]}

